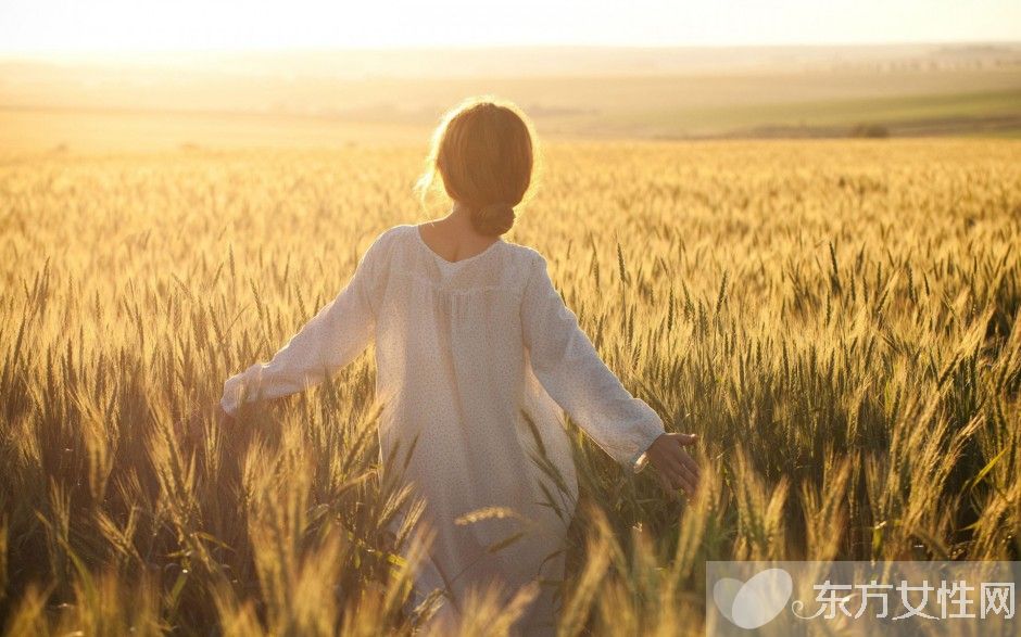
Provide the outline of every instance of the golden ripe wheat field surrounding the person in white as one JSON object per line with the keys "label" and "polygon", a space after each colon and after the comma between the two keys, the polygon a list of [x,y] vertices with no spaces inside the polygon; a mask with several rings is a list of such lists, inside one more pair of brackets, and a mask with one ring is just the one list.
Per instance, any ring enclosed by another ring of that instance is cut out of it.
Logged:
{"label": "golden ripe wheat field surrounding the person in white", "polygon": [[[408,635],[371,349],[199,447],[373,238],[418,145],[0,157],[0,625]],[[1021,559],[1021,143],[551,142],[508,240],[706,480],[569,423],[563,635],[702,634],[705,562]],[[417,553],[416,553],[417,551]],[[479,596],[465,635],[514,608]]]}

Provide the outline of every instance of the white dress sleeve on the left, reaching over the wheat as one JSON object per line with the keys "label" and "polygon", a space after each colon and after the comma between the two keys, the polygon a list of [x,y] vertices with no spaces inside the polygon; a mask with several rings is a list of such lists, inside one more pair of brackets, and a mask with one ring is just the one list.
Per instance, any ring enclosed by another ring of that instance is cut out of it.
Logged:
{"label": "white dress sleeve on the left, reaching over the wheat", "polygon": [[220,398],[227,413],[235,413],[244,402],[287,396],[316,385],[368,346],[375,332],[371,290],[381,237],[363,255],[343,290],[268,362],[256,362],[227,379]]}

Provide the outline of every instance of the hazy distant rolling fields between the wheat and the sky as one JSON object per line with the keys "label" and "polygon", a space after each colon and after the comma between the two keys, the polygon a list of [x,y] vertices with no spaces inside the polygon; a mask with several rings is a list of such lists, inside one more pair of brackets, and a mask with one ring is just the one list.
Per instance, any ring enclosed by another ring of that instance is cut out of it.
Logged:
{"label": "hazy distant rolling fields between the wheat and the sky", "polygon": [[322,148],[425,140],[461,99],[543,136],[1021,133],[1021,47],[452,49],[0,61],[0,146]]}

